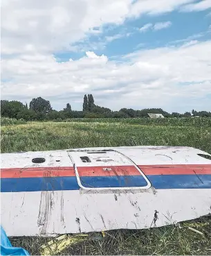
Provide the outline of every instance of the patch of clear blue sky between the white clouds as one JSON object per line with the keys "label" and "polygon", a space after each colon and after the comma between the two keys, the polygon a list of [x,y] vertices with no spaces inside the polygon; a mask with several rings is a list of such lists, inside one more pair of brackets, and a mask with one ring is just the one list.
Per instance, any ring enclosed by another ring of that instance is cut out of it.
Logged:
{"label": "patch of clear blue sky between the white clouds", "polygon": [[[128,19],[119,26],[107,26],[102,28],[103,33],[99,35],[90,35],[84,42],[75,43],[83,48],[90,50],[91,44],[97,45],[95,53],[98,55],[106,55],[109,58],[125,55],[131,51],[138,49],[153,49],[167,45],[181,45],[183,40],[188,41],[188,37],[192,40],[209,40],[210,39],[210,19],[209,10],[201,12],[179,12],[174,11],[164,15],[149,16],[144,15],[138,19]],[[139,29],[146,24],[158,24],[171,22],[167,28],[160,28],[154,31],[150,27],[145,32],[140,32]],[[98,28],[99,29],[99,28]],[[127,35],[127,33],[129,35]],[[119,35],[119,38],[118,38]],[[114,38],[111,42],[107,41],[107,37]],[[115,39],[115,37],[117,37]],[[181,40],[181,42],[178,42]],[[99,45],[98,45],[99,44]],[[77,60],[84,56],[81,51],[63,51],[55,53],[55,57],[61,61],[68,61],[69,58]]]}

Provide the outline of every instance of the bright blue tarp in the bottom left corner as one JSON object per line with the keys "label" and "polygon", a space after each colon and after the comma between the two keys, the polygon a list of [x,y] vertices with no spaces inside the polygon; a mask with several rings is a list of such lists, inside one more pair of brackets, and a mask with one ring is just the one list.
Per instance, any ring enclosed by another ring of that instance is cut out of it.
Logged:
{"label": "bright blue tarp in the bottom left corner", "polygon": [[1,255],[30,255],[23,248],[13,247],[6,232],[1,227]]}

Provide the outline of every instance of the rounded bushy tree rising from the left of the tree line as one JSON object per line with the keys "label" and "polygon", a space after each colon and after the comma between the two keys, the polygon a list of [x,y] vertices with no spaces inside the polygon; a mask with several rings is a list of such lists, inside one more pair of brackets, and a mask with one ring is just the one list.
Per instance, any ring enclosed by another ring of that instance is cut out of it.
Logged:
{"label": "rounded bushy tree rising from the left of the tree line", "polygon": [[50,101],[46,101],[42,97],[33,98],[32,101],[30,101],[29,108],[30,110],[42,114],[47,114],[52,110]]}

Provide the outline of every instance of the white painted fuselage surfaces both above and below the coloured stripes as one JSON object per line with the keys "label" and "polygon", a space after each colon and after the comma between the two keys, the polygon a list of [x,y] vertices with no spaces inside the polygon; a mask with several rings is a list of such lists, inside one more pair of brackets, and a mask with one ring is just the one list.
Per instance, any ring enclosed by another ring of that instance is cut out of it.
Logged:
{"label": "white painted fuselage surfaces both above and below the coloured stripes", "polygon": [[[78,148],[74,151],[112,149],[126,156],[112,155],[115,165],[131,164],[210,164],[195,148],[134,146],[118,148]],[[68,151],[68,152],[67,152]],[[71,150],[72,151],[72,150]],[[1,154],[1,168],[73,167],[69,150]],[[77,162],[79,152],[72,152]],[[208,154],[207,154],[208,155]],[[34,157],[46,162],[33,164]],[[94,161],[95,155],[89,155]],[[129,159],[127,158],[129,157]],[[56,162],[60,160],[60,162]],[[104,166],[106,162],[96,162]],[[111,165],[111,164],[109,164]],[[211,167],[211,165],[210,165]],[[141,171],[140,171],[141,172]],[[8,236],[52,236],[55,234],[93,232],[113,229],[143,229],[169,225],[209,214],[211,189],[131,189],[72,191],[1,192],[1,225]]]}

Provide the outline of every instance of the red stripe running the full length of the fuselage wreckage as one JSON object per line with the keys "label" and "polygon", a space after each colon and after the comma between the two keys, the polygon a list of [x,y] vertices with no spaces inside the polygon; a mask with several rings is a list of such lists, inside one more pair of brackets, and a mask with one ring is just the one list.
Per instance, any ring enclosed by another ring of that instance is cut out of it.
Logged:
{"label": "red stripe running the full length of the fuselage wreckage", "polygon": [[[211,174],[211,164],[138,165],[145,175]],[[80,176],[137,176],[134,166],[77,167]],[[30,167],[1,169],[1,178],[39,178],[75,176],[73,167]]]}

